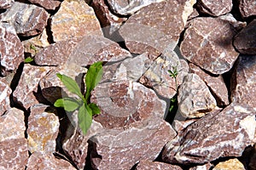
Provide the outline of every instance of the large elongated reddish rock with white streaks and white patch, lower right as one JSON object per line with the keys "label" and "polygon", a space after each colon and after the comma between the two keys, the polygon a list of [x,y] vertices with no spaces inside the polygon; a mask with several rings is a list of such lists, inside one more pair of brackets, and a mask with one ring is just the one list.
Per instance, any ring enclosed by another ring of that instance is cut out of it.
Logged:
{"label": "large elongated reddish rock with white streaks and white patch, lower right", "polygon": [[241,156],[252,144],[255,127],[255,110],[233,103],[189,125],[166,144],[162,158],[171,163],[204,164],[219,157]]}

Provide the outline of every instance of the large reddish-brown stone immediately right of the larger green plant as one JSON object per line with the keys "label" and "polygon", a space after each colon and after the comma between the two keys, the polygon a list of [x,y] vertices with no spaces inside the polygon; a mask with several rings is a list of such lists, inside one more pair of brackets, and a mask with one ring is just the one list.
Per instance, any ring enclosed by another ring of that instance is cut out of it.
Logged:
{"label": "large reddish-brown stone immediately right of the larger green plant", "polygon": [[90,100],[102,111],[94,120],[106,128],[132,127],[152,116],[163,118],[166,111],[152,89],[127,80],[99,84]]}

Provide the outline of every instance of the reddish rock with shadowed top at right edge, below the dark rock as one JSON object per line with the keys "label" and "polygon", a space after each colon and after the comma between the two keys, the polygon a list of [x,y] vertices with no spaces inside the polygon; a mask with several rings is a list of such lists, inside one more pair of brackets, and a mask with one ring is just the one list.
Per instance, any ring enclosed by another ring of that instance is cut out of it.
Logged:
{"label": "reddish rock with shadowed top at right edge, below the dark rock", "polygon": [[256,108],[256,55],[241,55],[231,78],[231,100]]}

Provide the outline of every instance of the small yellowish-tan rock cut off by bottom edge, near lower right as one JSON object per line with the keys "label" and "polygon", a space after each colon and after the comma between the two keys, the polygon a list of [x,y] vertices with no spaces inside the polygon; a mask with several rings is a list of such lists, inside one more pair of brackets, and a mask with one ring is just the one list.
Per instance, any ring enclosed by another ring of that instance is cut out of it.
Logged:
{"label": "small yellowish-tan rock cut off by bottom edge, near lower right", "polygon": [[241,161],[238,159],[230,159],[228,161],[219,162],[212,170],[246,170]]}

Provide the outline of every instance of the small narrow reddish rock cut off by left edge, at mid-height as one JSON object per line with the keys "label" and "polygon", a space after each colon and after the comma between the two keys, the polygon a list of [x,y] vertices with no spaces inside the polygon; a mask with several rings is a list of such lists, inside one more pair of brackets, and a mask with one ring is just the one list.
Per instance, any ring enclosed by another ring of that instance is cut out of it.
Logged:
{"label": "small narrow reddish rock cut off by left edge, at mid-height", "polygon": [[0,115],[3,115],[5,111],[10,109],[9,96],[12,93],[12,89],[9,87],[8,82],[1,77],[0,78]]}

